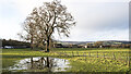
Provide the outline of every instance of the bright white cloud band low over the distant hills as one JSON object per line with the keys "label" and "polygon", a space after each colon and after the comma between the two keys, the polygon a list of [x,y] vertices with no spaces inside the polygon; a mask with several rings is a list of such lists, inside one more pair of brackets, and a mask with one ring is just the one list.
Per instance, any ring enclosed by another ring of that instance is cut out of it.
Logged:
{"label": "bright white cloud band low over the distant hills", "polygon": [[72,33],[69,38],[56,38],[57,40],[68,41],[97,41],[97,40],[129,40],[129,29],[107,30],[107,32],[81,32]]}

